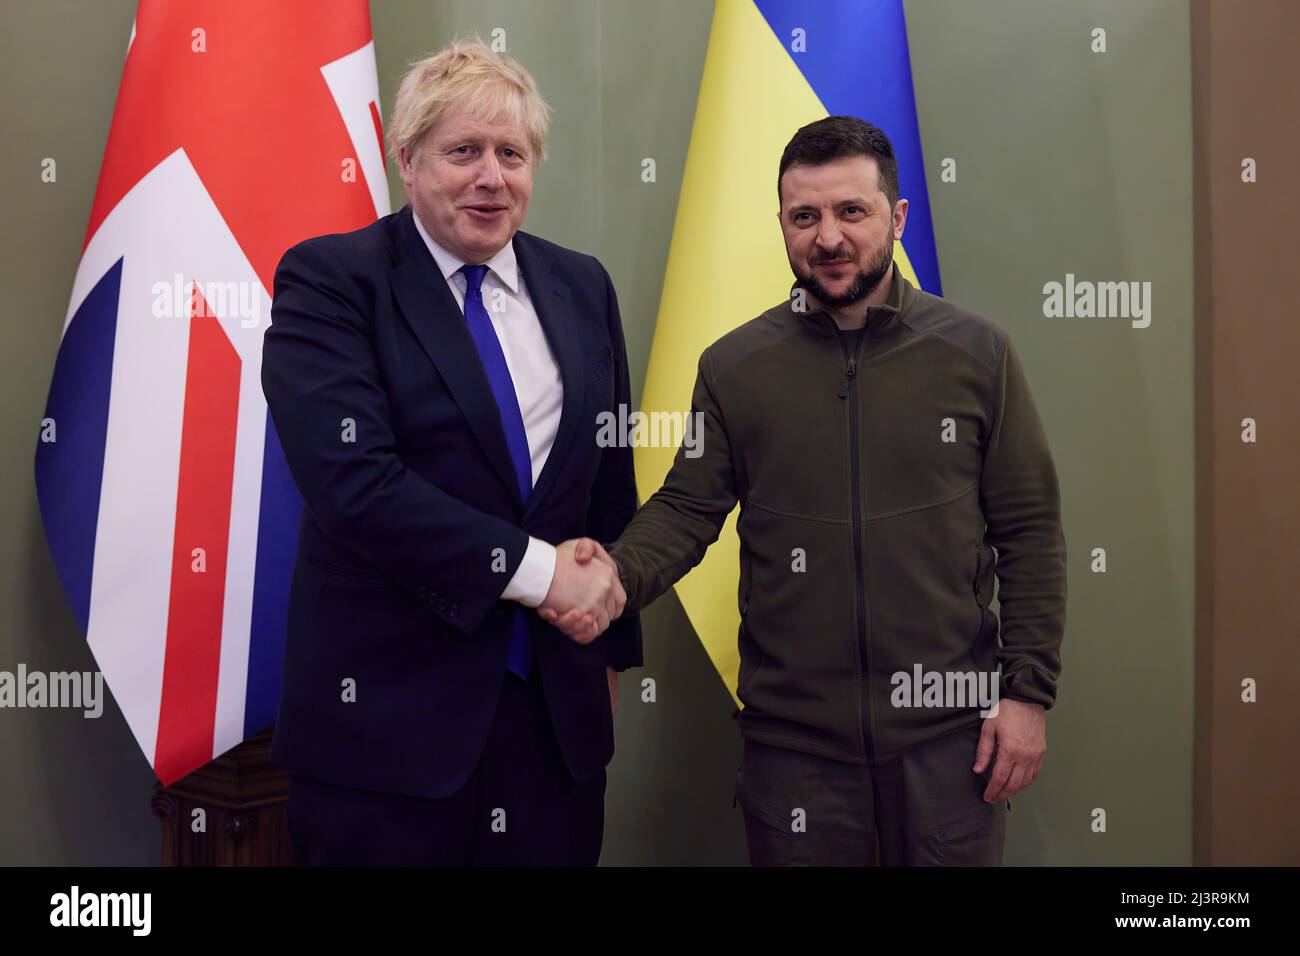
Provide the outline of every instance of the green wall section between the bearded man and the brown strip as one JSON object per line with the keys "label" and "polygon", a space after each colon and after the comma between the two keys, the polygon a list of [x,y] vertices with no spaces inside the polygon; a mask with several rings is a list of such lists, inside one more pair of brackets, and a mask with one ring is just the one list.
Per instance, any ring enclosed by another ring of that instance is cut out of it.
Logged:
{"label": "green wall section between the bearded man and the brown strip", "polygon": [[[1184,3],[907,5],[949,298],[1005,325],[1043,414],[1070,604],[1009,864],[1191,862],[1191,60]],[[1106,52],[1091,31],[1106,30]],[[956,183],[935,164],[958,160]],[[1152,323],[1044,319],[1043,285],[1152,282]],[[1106,551],[1093,574],[1091,553]],[[1095,808],[1106,832],[1091,831]]]}

